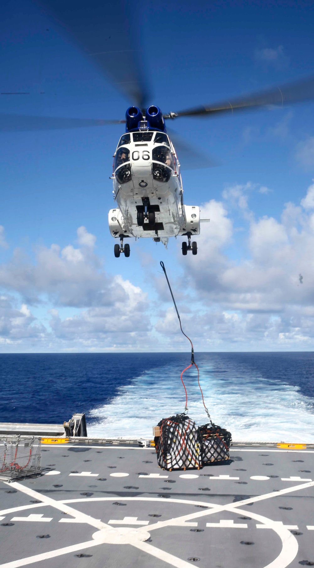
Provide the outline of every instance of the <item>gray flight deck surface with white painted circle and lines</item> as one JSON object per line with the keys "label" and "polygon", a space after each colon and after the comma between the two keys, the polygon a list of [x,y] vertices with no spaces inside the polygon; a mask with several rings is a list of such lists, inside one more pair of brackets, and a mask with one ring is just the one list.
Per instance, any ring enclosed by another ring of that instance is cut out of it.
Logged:
{"label": "gray flight deck surface with white painted circle and lines", "polygon": [[161,470],[153,448],[58,444],[42,452],[42,477],[0,482],[0,568],[314,562],[312,449],[233,446],[230,463],[185,472]]}

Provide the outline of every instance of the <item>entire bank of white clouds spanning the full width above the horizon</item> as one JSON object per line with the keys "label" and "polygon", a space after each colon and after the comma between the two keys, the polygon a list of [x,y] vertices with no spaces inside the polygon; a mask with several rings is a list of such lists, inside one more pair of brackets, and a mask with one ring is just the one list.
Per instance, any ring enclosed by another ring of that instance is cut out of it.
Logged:
{"label": "entire bank of white clouds spanning the full width above the horizon", "polygon": [[[179,272],[173,263],[168,274],[195,349],[314,348],[314,182],[280,219],[250,210],[250,193],[262,187],[228,186],[222,201],[205,203],[201,216],[210,223],[201,225],[197,256],[178,253]],[[242,218],[241,233],[234,216]],[[35,262],[17,249],[0,266],[2,349],[187,350],[151,259],[143,257],[144,286],[109,276],[85,231],[78,247],[41,247]],[[152,285],[158,301],[146,293]],[[44,325],[32,313],[38,302],[49,309]]]}

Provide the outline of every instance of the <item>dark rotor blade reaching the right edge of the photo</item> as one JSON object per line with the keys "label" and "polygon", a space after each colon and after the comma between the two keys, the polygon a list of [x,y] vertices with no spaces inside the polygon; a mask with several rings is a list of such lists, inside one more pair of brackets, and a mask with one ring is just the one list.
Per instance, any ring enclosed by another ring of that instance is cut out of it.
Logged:
{"label": "dark rotor blade reaching the right edge of the photo", "polygon": [[284,103],[309,101],[314,98],[314,76],[294,83],[286,83],[280,87],[259,91],[244,97],[230,99],[213,105],[189,108],[179,112],[164,114],[164,118],[177,118],[177,116],[210,116],[221,112],[235,112],[249,110],[254,107],[267,105],[283,106]]}

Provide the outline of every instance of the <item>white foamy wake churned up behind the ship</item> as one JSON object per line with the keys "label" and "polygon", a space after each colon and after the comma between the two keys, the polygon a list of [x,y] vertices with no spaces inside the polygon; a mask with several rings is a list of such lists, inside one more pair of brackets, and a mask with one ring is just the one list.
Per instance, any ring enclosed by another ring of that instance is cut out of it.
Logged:
{"label": "white foamy wake churned up behind the ship", "polygon": [[[90,412],[94,421],[88,435],[152,437],[152,427],[162,418],[184,411],[180,373],[179,365],[165,365],[120,387],[110,404]],[[188,415],[197,425],[205,424],[196,370],[187,371],[184,381]],[[213,422],[232,432],[233,440],[313,442],[313,404],[299,387],[239,373],[220,378],[208,363],[201,365],[200,382]]]}

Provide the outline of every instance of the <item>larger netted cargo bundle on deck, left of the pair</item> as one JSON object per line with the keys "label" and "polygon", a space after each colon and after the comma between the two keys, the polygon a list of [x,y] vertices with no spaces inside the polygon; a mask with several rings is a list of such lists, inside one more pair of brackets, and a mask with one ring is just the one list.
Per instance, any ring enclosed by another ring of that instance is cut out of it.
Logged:
{"label": "larger netted cargo bundle on deck, left of the pair", "polygon": [[188,416],[177,414],[160,420],[156,438],[158,465],[169,471],[201,467],[200,441],[196,424]]}

